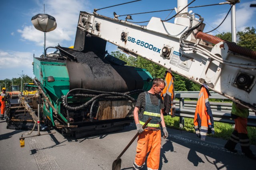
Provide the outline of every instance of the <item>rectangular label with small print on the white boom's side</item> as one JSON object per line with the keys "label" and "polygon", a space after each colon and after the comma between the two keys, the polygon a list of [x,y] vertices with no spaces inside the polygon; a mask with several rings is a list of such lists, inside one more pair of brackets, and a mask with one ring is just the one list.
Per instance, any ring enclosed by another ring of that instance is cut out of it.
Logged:
{"label": "rectangular label with small print on the white boom's side", "polygon": [[194,58],[192,58],[192,57],[189,57],[189,56],[184,55],[182,53],[173,51],[170,63],[172,65],[178,66],[181,69],[189,71],[189,69],[192,65],[193,59]]}

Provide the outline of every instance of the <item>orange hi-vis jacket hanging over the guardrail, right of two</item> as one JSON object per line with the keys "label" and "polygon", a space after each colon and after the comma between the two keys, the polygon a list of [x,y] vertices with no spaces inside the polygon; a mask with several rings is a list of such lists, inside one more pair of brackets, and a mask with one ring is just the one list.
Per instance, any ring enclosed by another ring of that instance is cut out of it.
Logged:
{"label": "orange hi-vis jacket hanging over the guardrail, right of two", "polygon": [[194,128],[196,135],[205,140],[207,133],[214,134],[214,120],[208,97],[210,92],[207,85],[203,84],[199,93],[196,112],[194,117]]}

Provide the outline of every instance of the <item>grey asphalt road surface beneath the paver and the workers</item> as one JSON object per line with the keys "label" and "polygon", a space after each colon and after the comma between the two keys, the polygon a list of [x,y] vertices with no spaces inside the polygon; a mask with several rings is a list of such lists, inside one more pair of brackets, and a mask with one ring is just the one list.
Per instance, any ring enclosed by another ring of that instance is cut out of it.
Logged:
{"label": "grey asphalt road surface beneath the paver and the workers", "polygon": [[[25,147],[20,148],[19,138],[28,132],[6,129],[5,120],[0,121],[1,170],[111,170],[112,162],[136,134],[136,126],[132,123],[119,132],[80,139],[51,130],[56,133],[41,132],[47,135],[25,138]],[[168,138],[162,138],[161,170],[256,169],[256,161],[245,157],[240,145],[234,154],[223,148],[226,140],[207,136],[201,141],[194,133],[171,128],[168,132]],[[256,154],[256,147],[251,148]],[[121,157],[122,170],[132,170],[135,154],[136,142]]]}

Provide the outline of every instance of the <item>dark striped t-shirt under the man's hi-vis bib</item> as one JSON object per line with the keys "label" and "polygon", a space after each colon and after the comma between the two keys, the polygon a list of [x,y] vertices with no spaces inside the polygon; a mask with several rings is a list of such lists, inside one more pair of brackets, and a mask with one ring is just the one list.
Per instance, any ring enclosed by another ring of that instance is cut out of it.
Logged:
{"label": "dark striped t-shirt under the man's hi-vis bib", "polygon": [[[162,97],[160,95],[158,95],[158,94],[154,95],[154,94],[151,94],[151,93],[148,93],[148,94],[149,94],[150,101],[151,101],[152,105],[157,106],[158,105],[158,99],[160,99],[160,101],[161,101],[160,109],[164,109],[164,102],[163,102]],[[144,113],[145,107],[146,107],[146,94],[145,94],[145,92],[140,93],[135,106],[140,109],[139,118],[142,119],[142,116],[143,116],[143,113]]]}

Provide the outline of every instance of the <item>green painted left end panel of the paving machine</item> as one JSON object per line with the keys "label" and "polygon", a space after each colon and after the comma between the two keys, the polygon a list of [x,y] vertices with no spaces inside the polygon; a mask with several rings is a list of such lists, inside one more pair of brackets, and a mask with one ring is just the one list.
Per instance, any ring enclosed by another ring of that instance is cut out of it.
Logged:
{"label": "green painted left end panel of the paving machine", "polygon": [[[66,95],[66,93],[69,91],[69,77],[66,63],[63,61],[34,58],[33,65],[34,75],[40,82],[42,89],[48,96],[48,99],[51,101],[52,105],[54,105],[55,109],[58,111],[58,116],[62,119],[62,121],[67,123],[66,118],[60,112],[60,99],[62,95]],[[49,76],[53,76],[55,81],[48,82],[47,77]],[[55,126],[52,108],[45,104],[42,105],[42,109],[48,121]]]}

